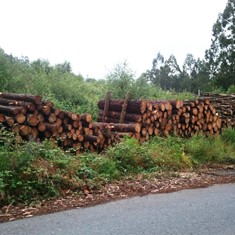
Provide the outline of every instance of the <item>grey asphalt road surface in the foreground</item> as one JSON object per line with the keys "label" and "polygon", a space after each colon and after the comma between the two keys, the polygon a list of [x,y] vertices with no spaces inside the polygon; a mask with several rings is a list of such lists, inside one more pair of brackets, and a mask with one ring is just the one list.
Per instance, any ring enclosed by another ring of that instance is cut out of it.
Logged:
{"label": "grey asphalt road surface in the foreground", "polygon": [[0,224],[1,235],[235,234],[235,184],[134,197]]}

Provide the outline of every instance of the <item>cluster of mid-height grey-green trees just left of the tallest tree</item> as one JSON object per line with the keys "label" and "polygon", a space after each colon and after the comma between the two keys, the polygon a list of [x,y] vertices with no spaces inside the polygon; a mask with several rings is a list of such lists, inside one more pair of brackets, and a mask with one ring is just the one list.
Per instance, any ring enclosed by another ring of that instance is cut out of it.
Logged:
{"label": "cluster of mid-height grey-green trees just left of the tallest tree", "polygon": [[152,69],[147,70],[142,76],[163,90],[197,93],[198,90],[209,91],[211,87],[206,62],[196,60],[192,54],[186,56],[180,68],[174,55],[165,60],[164,56],[158,53],[153,60]]}

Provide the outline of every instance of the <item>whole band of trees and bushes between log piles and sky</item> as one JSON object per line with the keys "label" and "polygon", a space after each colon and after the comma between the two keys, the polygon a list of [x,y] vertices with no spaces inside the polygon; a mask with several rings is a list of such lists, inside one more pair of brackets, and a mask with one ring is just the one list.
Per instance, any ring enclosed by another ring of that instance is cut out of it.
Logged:
{"label": "whole band of trees and bushes between log piles and sky", "polygon": [[[174,99],[179,92],[192,98],[200,91],[234,92],[235,86],[235,4],[228,0],[225,10],[213,26],[211,47],[204,59],[188,54],[182,68],[171,55],[158,53],[152,67],[138,78],[127,62],[117,65],[104,80],[84,79],[72,72],[70,63],[52,66],[38,59],[7,55],[0,48],[1,92],[31,93],[53,101],[58,108],[78,113],[88,112],[97,117],[97,101],[108,90],[113,98]],[[190,94],[191,93],[191,94]]]}

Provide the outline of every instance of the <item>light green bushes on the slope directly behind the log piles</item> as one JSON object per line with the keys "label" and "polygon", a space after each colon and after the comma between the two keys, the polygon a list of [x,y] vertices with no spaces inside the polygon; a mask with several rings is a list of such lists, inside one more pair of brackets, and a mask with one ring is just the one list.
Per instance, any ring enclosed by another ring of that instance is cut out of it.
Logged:
{"label": "light green bushes on the slope directly behind the log piles", "polygon": [[[144,78],[135,79],[127,63],[117,65],[106,80],[85,80],[71,72],[68,62],[52,66],[48,61],[29,62],[27,58],[7,55],[0,49],[1,92],[42,95],[57,108],[76,113],[91,113],[95,120],[98,114],[97,102],[107,91],[112,98],[123,98],[130,92],[132,99],[174,99],[177,92],[166,92],[152,86]],[[192,98],[183,93],[182,98]]]}

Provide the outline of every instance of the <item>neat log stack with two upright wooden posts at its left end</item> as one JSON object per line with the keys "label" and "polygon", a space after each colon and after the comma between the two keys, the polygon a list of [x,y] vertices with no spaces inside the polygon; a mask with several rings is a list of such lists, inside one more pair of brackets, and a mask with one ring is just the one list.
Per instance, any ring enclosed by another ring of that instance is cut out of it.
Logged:
{"label": "neat log stack with two upright wooden posts at its left end", "polygon": [[[107,100],[98,102],[98,121],[114,124],[120,123],[124,100]],[[106,111],[104,110],[106,108]],[[168,136],[174,134],[181,137],[190,137],[199,132],[206,135],[219,133],[221,119],[216,109],[207,99],[194,101],[128,101],[125,111],[124,123],[138,124],[138,128],[125,130],[129,136],[141,142],[147,141],[151,136]]]}

